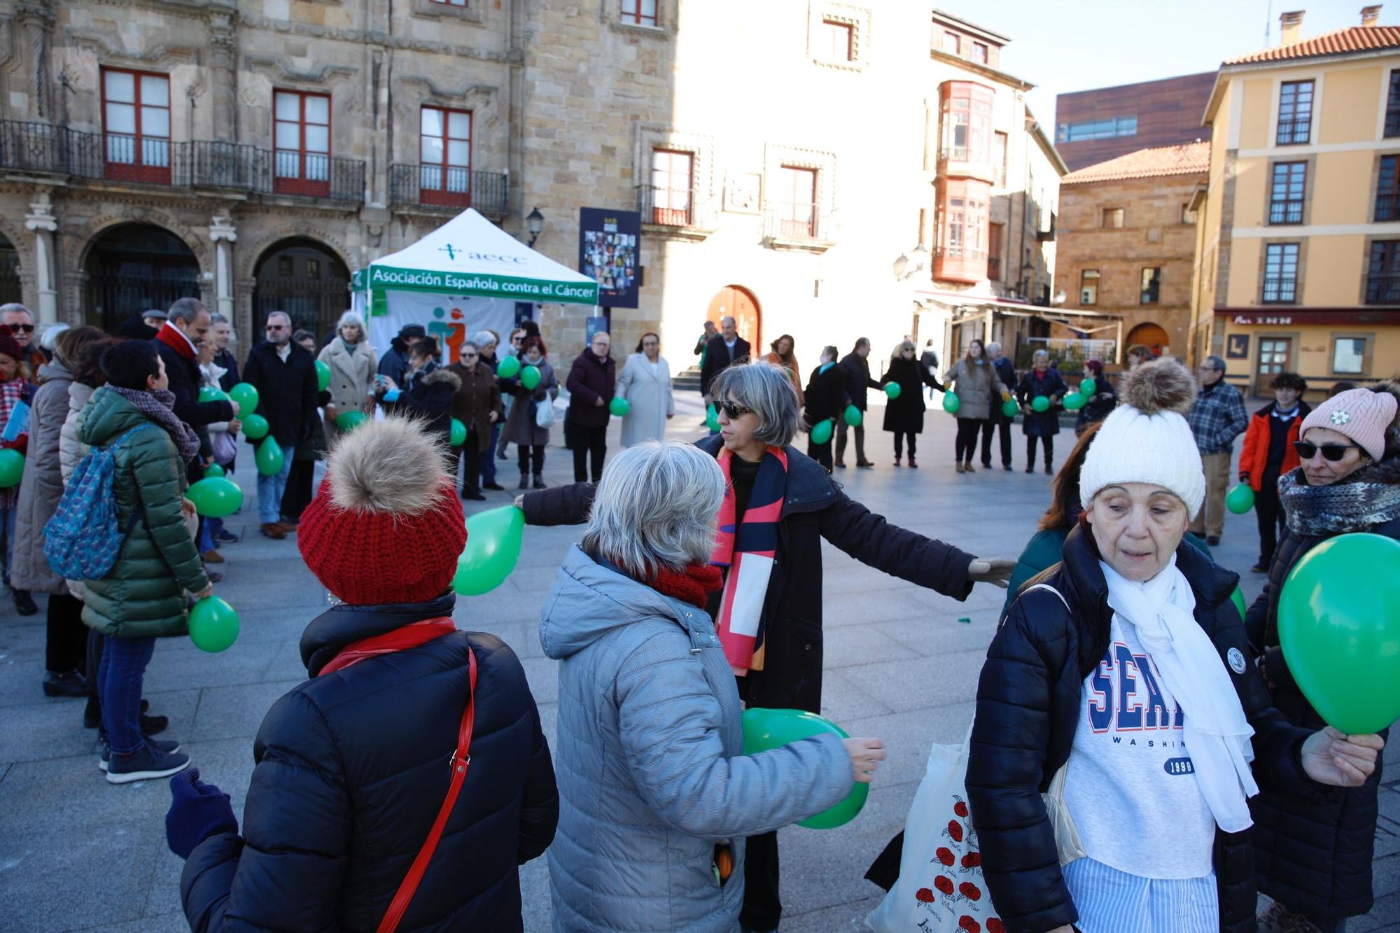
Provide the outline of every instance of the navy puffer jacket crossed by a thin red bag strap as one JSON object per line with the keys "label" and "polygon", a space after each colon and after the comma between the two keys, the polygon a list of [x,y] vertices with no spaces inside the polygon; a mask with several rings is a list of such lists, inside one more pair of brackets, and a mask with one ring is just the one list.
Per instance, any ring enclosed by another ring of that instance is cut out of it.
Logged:
{"label": "navy puffer jacket crossed by a thin red bag strap", "polygon": [[351,642],[449,616],[451,594],[335,607],[307,626],[311,679],[253,745],[244,834],[190,853],[192,930],[374,930],[427,839],[451,778],[476,654],[472,765],[400,930],[519,930],[517,866],[549,848],[559,796],[525,672],[493,635],[455,632],[326,677]]}

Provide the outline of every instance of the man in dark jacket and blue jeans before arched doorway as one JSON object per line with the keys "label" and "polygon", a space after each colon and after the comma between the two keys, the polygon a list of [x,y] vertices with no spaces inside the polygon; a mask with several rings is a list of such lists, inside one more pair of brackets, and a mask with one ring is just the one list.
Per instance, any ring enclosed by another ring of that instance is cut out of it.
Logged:
{"label": "man in dark jacket and blue jeans before arched doorway", "polygon": [[270,441],[283,452],[279,472],[258,471],[258,523],[266,537],[286,538],[295,525],[283,521],[281,496],[297,443],[311,436],[311,419],[316,417],[316,361],[293,342],[286,311],[267,315],[266,333],[248,354],[244,381],[258,389],[258,413],[267,419],[267,437],[252,443]]}

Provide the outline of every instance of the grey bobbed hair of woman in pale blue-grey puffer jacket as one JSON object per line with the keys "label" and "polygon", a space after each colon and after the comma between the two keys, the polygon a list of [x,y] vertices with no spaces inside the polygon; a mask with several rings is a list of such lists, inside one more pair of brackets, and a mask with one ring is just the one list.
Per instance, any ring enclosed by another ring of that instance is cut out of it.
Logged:
{"label": "grey bobbed hair of woman in pale blue-grey puffer jacket", "polygon": [[693,444],[645,441],[608,461],[582,548],[643,580],[707,563],[722,502],[714,457]]}

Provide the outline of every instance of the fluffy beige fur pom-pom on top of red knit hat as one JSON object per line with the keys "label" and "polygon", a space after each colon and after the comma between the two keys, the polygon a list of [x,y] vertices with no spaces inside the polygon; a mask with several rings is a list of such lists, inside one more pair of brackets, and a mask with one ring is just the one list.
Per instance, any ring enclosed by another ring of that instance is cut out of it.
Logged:
{"label": "fluffy beige fur pom-pom on top of red knit hat", "polygon": [[330,497],[346,510],[421,516],[448,482],[442,451],[413,419],[364,422],[326,458]]}

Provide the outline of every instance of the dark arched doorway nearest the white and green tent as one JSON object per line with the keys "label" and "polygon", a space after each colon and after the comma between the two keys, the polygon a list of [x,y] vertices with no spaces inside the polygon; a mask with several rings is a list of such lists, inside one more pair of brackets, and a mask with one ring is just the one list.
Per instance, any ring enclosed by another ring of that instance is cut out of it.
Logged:
{"label": "dark arched doorway nearest the white and green tent", "polygon": [[316,345],[350,307],[350,270],[330,248],[295,237],[274,242],[258,261],[253,290],[253,332],[272,311],[291,315],[293,328],[311,331]]}

